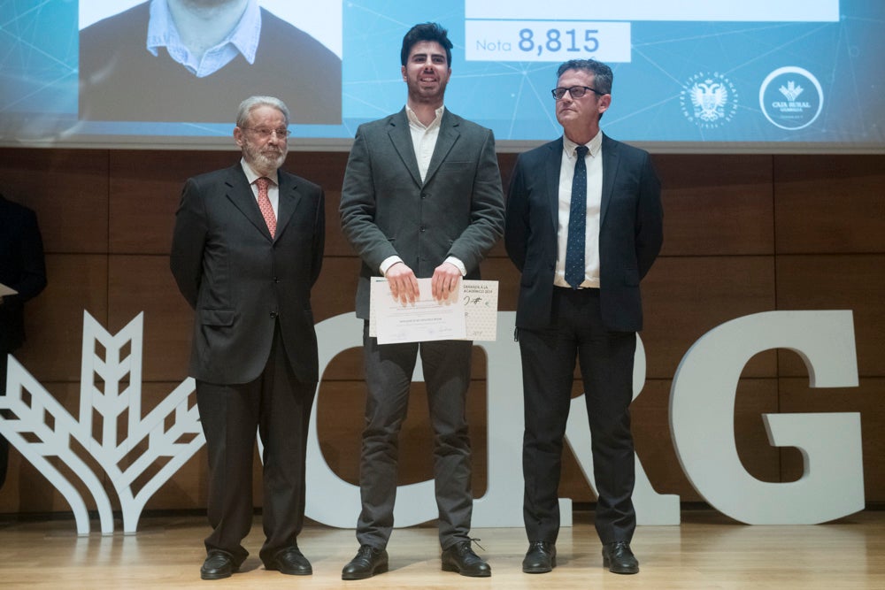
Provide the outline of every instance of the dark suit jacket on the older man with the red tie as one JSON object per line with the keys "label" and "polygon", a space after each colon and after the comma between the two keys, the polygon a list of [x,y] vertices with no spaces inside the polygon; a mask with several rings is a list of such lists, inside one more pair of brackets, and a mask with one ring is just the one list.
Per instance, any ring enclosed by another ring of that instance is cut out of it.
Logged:
{"label": "dark suit jacket on the older man with the red tie", "polygon": [[175,218],[170,265],[196,310],[190,375],[216,384],[258,378],[279,322],[289,362],[319,379],[311,287],[325,240],[318,185],[279,171],[275,238],[238,163],[189,179]]}

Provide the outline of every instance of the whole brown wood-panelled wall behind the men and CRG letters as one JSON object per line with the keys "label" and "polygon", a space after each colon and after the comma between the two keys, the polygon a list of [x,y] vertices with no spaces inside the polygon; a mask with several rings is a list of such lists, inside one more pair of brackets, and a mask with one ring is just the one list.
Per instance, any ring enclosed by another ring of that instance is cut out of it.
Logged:
{"label": "whole brown wood-panelled wall behind the men and CRG letters", "polygon": [[[516,154],[499,154],[506,188]],[[885,156],[665,155],[665,246],[643,282],[648,374],[634,406],[637,451],[660,493],[699,500],[673,450],[667,417],[673,374],[692,344],[734,318],[768,310],[854,310],[861,386],[810,392],[796,355],[766,351],[744,369],[735,399],[735,439],[746,469],[766,480],[797,477],[795,449],[772,448],[760,415],[771,411],[860,411],[868,502],[885,502]],[[65,407],[79,396],[82,314],[110,332],[145,312],[145,399],[167,395],[187,372],[192,312],[174,287],[168,250],[181,186],[190,175],[235,164],[231,151],[0,149],[0,191],[35,208],[48,250],[50,285],[27,307],[29,339],[16,356]],[[313,295],[316,320],[352,314],[359,261],[344,241],[338,204],[347,154],[292,152],[287,169],[327,195],[327,249]],[[34,185],[32,180],[36,180]],[[801,254],[801,256],[796,256]],[[496,244],[483,277],[501,283],[500,310],[514,310],[519,275]],[[474,492],[486,486],[486,358],[473,354],[469,419]],[[319,397],[324,455],[356,482],[365,385],[358,348],[329,364]],[[576,387],[580,385],[576,382]],[[423,385],[416,384],[404,433],[404,482],[432,473]],[[566,453],[563,495],[592,494]],[[148,509],[204,506],[198,454]],[[66,512],[61,497],[12,451],[0,512]],[[258,471],[258,469],[257,469]],[[256,478],[258,482],[258,478]],[[260,486],[253,487],[260,503]]]}

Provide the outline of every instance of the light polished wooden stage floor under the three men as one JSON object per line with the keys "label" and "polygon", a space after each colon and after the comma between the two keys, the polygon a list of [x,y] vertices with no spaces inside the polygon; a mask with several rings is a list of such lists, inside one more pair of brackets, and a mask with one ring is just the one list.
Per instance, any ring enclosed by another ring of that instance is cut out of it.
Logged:
{"label": "light polished wooden stage floor under the three men", "polygon": [[78,537],[72,520],[0,523],[0,587],[15,588],[885,588],[885,511],[866,510],[826,525],[747,526],[712,510],[685,510],[680,526],[641,526],[633,548],[641,571],[604,570],[587,514],[558,541],[558,567],[528,575],[519,528],[477,529],[492,577],[440,571],[436,530],[394,531],[388,573],[343,582],[356,553],[352,530],[310,525],[299,545],[312,576],[265,571],[257,519],[245,547],[250,556],[230,579],[204,581],[204,517],[142,517],[139,533]]}

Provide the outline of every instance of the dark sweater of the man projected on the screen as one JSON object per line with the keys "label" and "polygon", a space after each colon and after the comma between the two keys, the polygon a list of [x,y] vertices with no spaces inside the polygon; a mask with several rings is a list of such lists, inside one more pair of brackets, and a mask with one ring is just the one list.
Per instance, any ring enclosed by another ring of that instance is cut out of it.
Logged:
{"label": "dark sweater of the man projected on the screen", "polygon": [[197,78],[145,47],[148,2],[80,33],[80,119],[227,123],[242,96],[278,96],[289,122],[341,123],[341,58],[304,31],[261,9],[255,63],[238,55]]}

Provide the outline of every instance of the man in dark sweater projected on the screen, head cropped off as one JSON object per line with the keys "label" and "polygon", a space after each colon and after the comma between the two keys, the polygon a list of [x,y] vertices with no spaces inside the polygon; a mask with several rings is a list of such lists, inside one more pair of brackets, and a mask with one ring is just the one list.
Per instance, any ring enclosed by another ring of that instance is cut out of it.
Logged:
{"label": "man in dark sweater projected on the screen, head cropped off", "polygon": [[293,123],[337,125],[341,83],[340,57],[256,0],[153,0],[80,33],[84,120],[223,123],[261,88]]}

